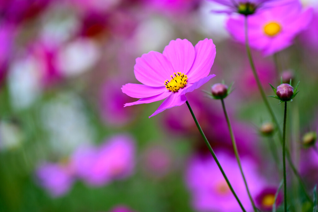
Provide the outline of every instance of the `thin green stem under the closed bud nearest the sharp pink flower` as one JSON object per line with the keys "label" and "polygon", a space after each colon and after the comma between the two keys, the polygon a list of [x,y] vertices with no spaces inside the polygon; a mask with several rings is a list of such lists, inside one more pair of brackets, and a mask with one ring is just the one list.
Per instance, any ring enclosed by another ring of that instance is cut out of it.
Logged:
{"label": "thin green stem under the closed bud nearest the sharp pink flower", "polygon": [[236,141],[235,141],[235,136],[234,136],[234,132],[233,132],[233,129],[232,129],[232,125],[231,125],[231,123],[230,123],[230,119],[229,119],[229,116],[228,116],[227,111],[226,111],[226,108],[225,108],[224,99],[221,99],[221,102],[222,102],[222,107],[223,107],[223,111],[224,111],[226,123],[227,123],[227,126],[228,126],[229,131],[230,131],[231,141],[232,141],[232,145],[233,145],[233,149],[234,149],[234,154],[235,154],[236,160],[237,160],[237,162],[238,162],[238,164],[239,164],[239,169],[240,169],[241,175],[242,175],[243,180],[244,180],[245,188],[246,188],[248,197],[249,197],[250,200],[251,200],[253,209],[254,209],[255,212],[257,212],[257,208],[256,208],[255,203],[254,203],[254,201],[253,201],[251,192],[250,192],[250,190],[248,189],[248,185],[247,185],[247,182],[246,182],[246,179],[245,179],[245,176],[244,176],[244,172],[243,172],[242,165],[241,165],[241,160],[240,160],[240,157],[239,157],[239,151],[238,151],[238,148],[237,148],[237,146],[236,146]]}

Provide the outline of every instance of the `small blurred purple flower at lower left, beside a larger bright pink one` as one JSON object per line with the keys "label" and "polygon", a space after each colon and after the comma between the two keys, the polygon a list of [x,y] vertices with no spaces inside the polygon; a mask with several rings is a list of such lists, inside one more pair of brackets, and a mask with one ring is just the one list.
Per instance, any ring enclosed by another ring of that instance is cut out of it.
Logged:
{"label": "small blurred purple flower at lower left, beside a larger bright pink one", "polygon": [[66,194],[74,182],[70,164],[43,163],[36,170],[38,183],[53,197]]}

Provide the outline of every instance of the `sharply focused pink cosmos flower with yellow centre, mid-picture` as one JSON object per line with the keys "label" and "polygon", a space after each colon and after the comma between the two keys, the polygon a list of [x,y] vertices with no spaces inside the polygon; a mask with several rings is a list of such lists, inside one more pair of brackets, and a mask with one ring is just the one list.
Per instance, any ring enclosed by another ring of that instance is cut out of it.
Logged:
{"label": "sharply focused pink cosmos flower with yellow centre, mid-picture", "polygon": [[176,39],[170,41],[162,54],[156,51],[143,54],[136,59],[134,67],[136,79],[143,84],[128,83],[121,88],[128,96],[141,99],[126,103],[124,107],[166,98],[151,115],[155,116],[165,109],[182,105],[187,101],[186,93],[215,76],[209,75],[215,55],[215,45],[207,38],[195,47],[187,39]]}

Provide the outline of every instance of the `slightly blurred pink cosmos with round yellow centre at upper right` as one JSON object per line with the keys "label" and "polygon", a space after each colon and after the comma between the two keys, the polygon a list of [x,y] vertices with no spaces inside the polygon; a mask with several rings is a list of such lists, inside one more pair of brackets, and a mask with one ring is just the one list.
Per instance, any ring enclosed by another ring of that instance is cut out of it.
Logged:
{"label": "slightly blurred pink cosmos with round yellow centre at upper right", "polygon": [[[248,38],[252,48],[269,56],[293,43],[312,20],[313,9],[302,11],[299,1],[264,10],[248,17]],[[229,18],[226,27],[235,40],[245,43],[245,17]]]}

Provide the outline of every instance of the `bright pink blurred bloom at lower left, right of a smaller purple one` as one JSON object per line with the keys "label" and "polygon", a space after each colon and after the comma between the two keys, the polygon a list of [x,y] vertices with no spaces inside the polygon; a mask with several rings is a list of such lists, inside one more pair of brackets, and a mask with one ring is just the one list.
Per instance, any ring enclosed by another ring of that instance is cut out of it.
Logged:
{"label": "bright pink blurred bloom at lower left, right of a smaller purple one", "polygon": [[135,167],[135,146],[131,137],[116,135],[100,147],[79,148],[73,155],[79,178],[93,186],[132,175]]}

